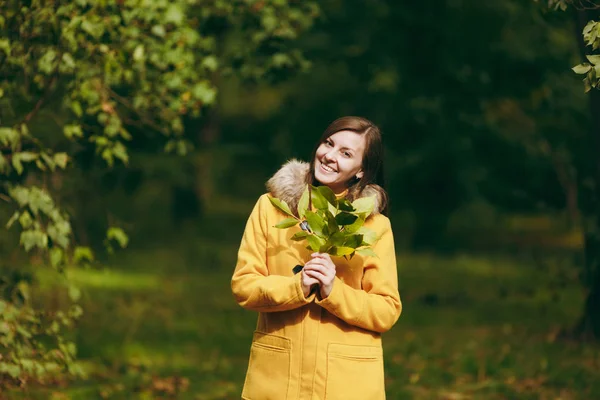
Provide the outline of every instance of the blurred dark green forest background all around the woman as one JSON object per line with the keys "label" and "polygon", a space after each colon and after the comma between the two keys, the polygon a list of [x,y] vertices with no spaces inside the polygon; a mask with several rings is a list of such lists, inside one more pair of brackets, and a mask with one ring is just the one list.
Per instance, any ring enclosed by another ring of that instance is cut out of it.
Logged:
{"label": "blurred dark green forest background all around the woman", "polygon": [[600,396],[593,2],[0,10],[0,398],[239,398],[246,219],[343,115],[386,145],[388,398]]}

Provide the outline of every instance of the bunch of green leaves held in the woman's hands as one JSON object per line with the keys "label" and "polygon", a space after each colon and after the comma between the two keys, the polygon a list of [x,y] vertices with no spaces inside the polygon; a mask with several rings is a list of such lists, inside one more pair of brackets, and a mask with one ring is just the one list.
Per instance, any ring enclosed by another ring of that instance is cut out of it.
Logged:
{"label": "bunch of green leaves held in the woman's hands", "polygon": [[[309,202],[309,199],[311,200]],[[372,249],[377,235],[364,227],[375,207],[374,197],[363,197],[350,202],[337,198],[327,186],[306,186],[295,215],[289,205],[278,198],[269,197],[278,210],[288,215],[275,228],[288,229],[299,225],[291,240],[306,240],[309,250],[352,259],[356,253],[376,256]],[[309,209],[312,202],[313,210]]]}

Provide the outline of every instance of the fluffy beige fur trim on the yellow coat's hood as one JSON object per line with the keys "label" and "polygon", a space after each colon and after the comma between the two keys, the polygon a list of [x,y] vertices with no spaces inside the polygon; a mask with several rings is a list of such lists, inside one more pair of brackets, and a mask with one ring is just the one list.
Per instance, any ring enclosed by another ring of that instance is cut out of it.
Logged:
{"label": "fluffy beige fur trim on the yellow coat's hood", "polygon": [[[267,181],[267,190],[273,197],[284,200],[294,214],[297,214],[298,201],[304,192],[308,182],[308,170],[310,164],[304,161],[291,159]],[[367,185],[359,197],[375,196],[374,214],[381,212],[381,195],[375,188],[376,185]]]}

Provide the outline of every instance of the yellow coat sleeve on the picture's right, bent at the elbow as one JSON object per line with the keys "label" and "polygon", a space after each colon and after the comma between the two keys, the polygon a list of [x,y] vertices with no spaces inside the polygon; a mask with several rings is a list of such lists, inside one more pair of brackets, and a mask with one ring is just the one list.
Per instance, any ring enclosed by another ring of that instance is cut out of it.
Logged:
{"label": "yellow coat sleeve on the picture's right, bent at the elbow", "polygon": [[380,239],[373,246],[378,257],[365,257],[362,289],[353,288],[337,276],[329,296],[315,300],[347,323],[375,332],[392,328],[402,312],[394,237],[389,219],[380,216]]}

